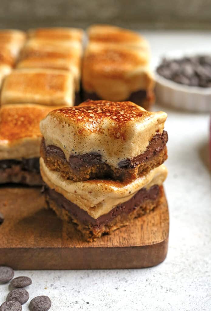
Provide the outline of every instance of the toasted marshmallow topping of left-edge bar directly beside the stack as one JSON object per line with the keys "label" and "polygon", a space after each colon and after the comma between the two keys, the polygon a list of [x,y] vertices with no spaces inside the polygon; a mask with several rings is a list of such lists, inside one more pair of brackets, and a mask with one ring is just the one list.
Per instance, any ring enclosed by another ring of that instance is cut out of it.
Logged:
{"label": "toasted marshmallow topping of left-edge bar directly beside the stack", "polygon": [[0,160],[39,157],[39,122],[53,107],[35,104],[0,108]]}

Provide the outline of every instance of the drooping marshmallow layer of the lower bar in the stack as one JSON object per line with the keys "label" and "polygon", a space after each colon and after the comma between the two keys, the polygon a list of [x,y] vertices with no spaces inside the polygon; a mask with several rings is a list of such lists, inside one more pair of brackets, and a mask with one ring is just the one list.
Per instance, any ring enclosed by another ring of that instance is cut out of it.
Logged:
{"label": "drooping marshmallow layer of the lower bar in the stack", "polygon": [[51,189],[61,193],[94,219],[107,214],[118,204],[130,200],[141,188],[149,189],[153,185],[162,185],[167,177],[167,169],[161,165],[129,184],[111,180],[74,183],[63,179],[59,172],[49,170],[43,158],[40,158],[40,172],[44,182]]}

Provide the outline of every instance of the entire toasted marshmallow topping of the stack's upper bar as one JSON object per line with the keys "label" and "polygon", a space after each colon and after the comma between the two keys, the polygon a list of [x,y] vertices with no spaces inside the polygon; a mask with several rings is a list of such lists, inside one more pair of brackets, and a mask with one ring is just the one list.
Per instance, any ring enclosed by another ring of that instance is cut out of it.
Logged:
{"label": "entire toasted marshmallow topping of the stack's upper bar", "polygon": [[46,146],[70,155],[95,152],[108,165],[143,153],[149,141],[163,132],[165,112],[147,112],[131,102],[89,100],[77,107],[57,109],[40,122]]}

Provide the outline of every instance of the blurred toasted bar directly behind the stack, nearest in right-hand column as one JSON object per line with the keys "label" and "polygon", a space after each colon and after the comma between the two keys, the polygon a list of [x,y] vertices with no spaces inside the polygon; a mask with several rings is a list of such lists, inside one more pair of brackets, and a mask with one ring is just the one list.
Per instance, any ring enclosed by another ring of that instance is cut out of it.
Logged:
{"label": "blurred toasted bar directly behind the stack, nearest in right-hand column", "polygon": [[82,87],[84,100],[129,100],[149,110],[154,102],[149,52],[90,42],[83,60]]}

